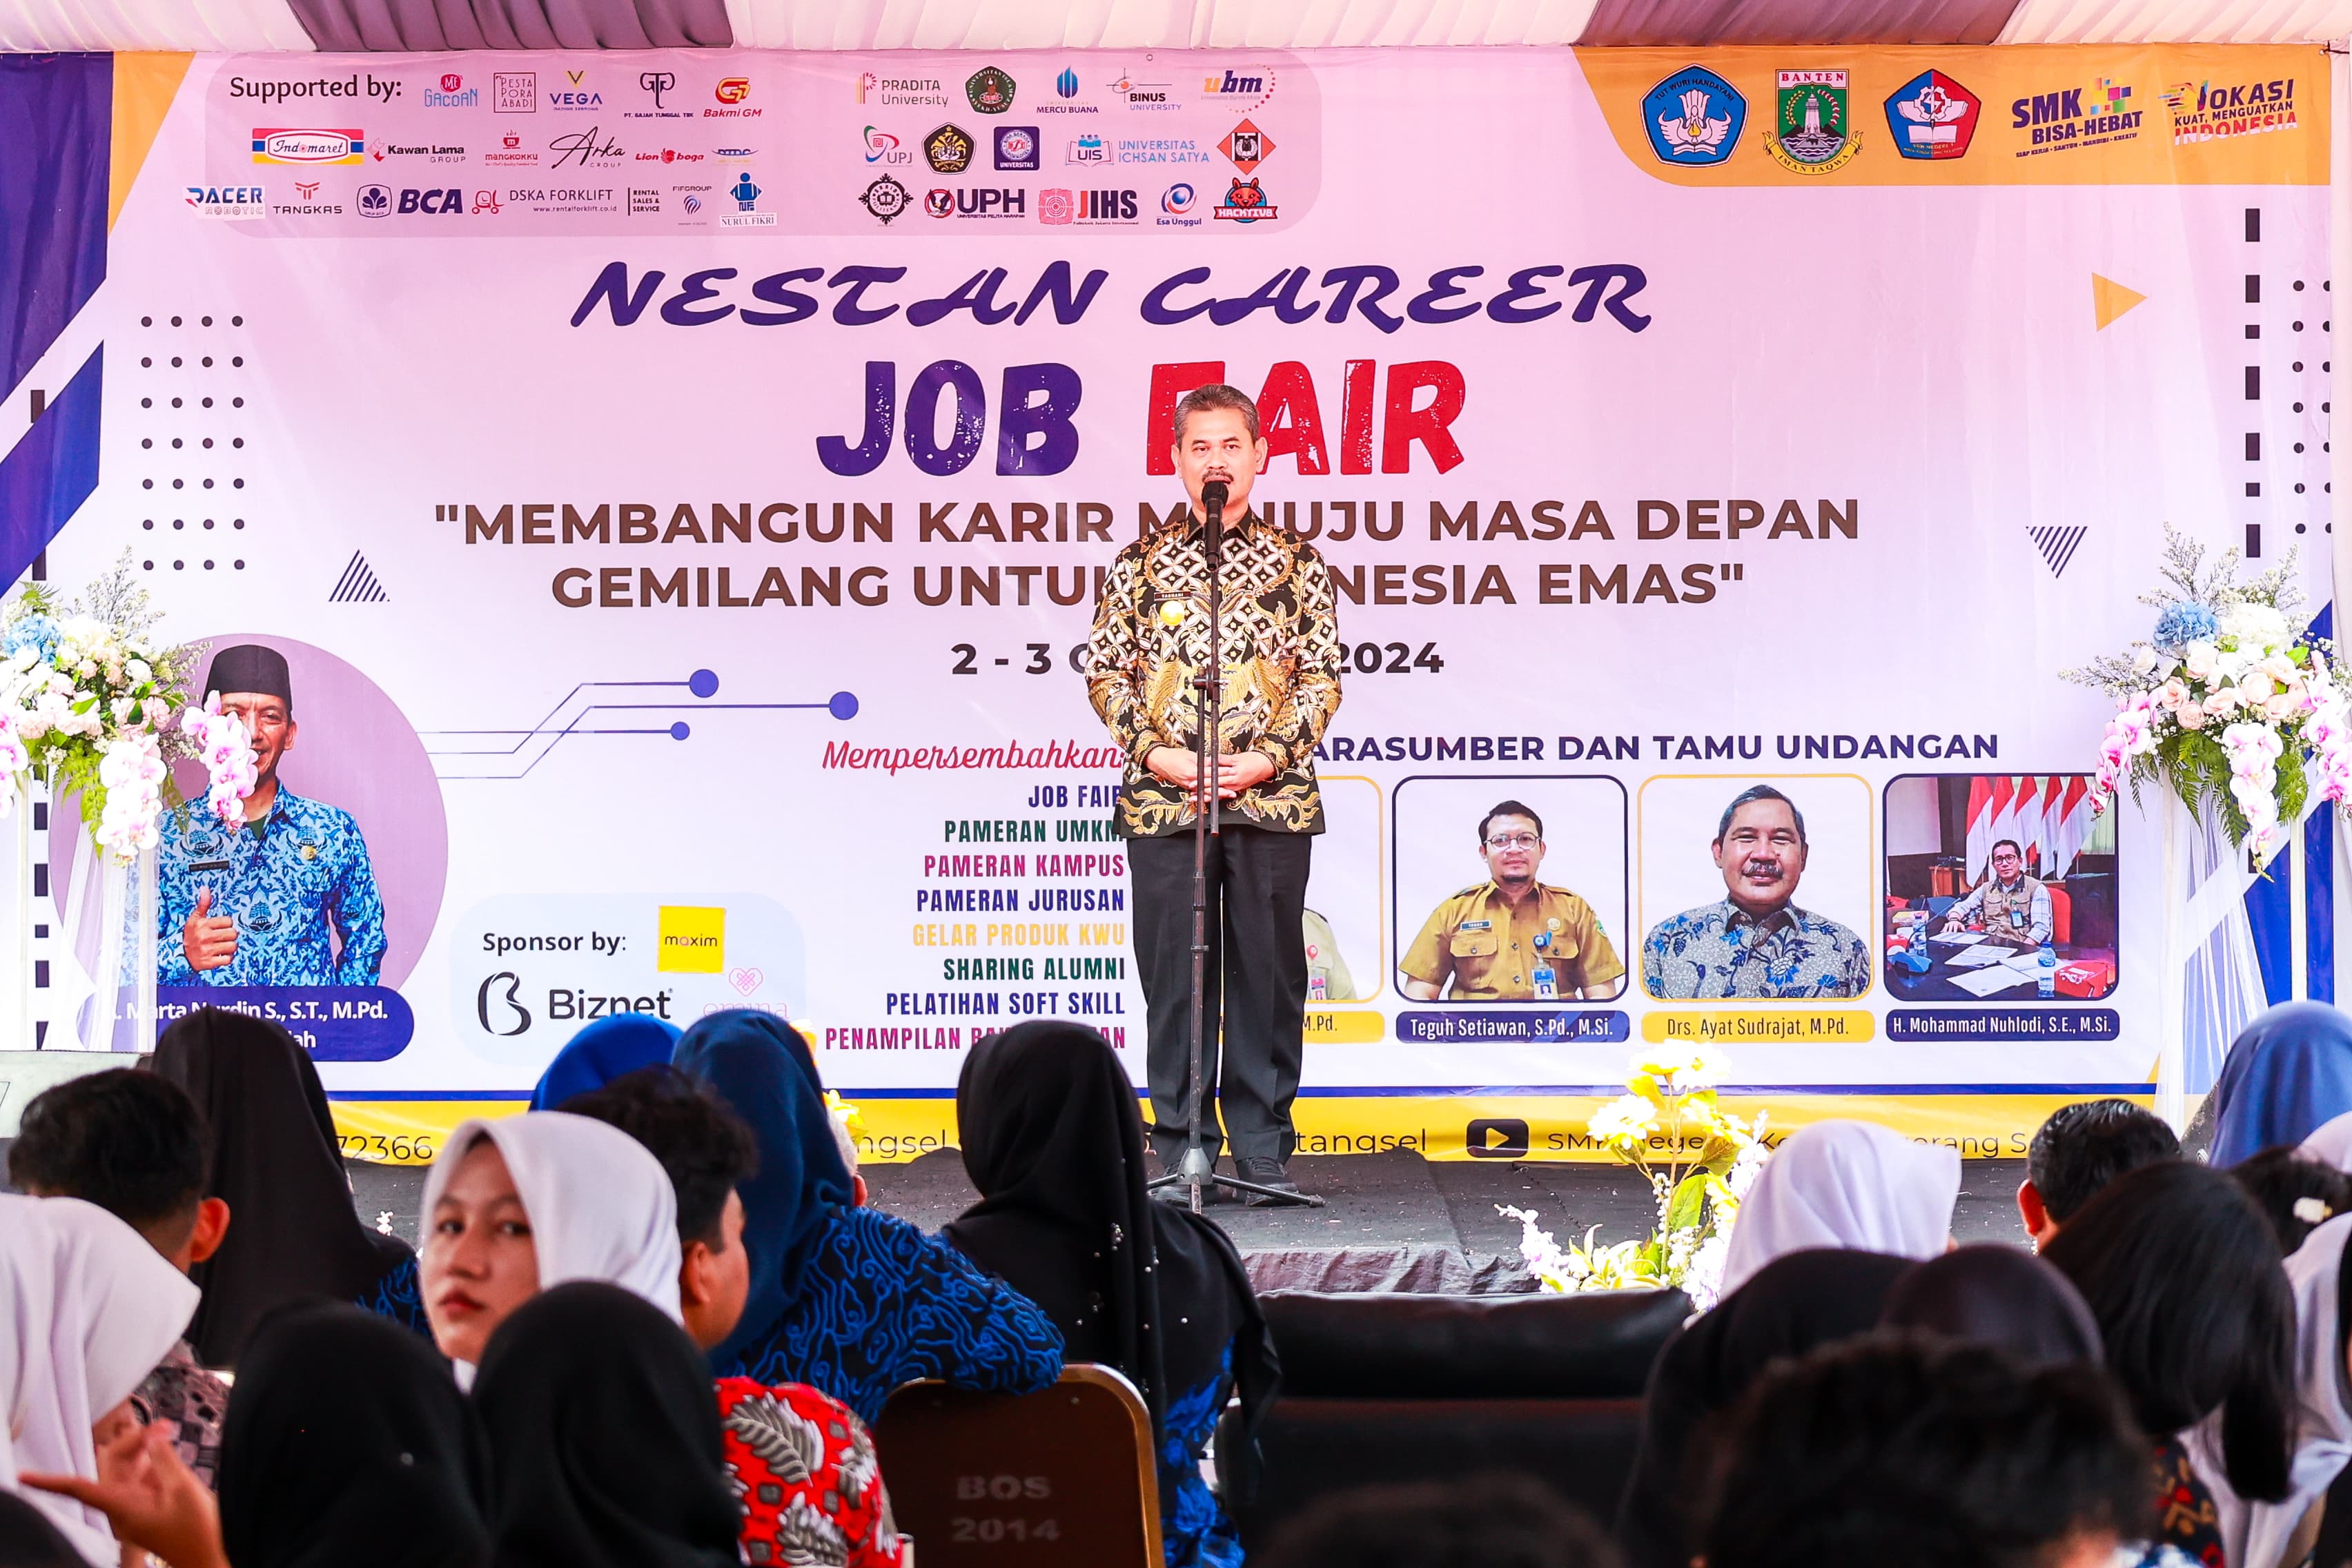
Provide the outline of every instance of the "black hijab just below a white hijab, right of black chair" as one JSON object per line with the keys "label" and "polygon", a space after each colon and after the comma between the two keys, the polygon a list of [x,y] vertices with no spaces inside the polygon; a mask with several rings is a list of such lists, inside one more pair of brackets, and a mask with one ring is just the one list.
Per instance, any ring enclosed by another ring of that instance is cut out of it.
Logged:
{"label": "black hijab just below a white hijab, right of black chair", "polygon": [[1811,1248],[1773,1258],[1658,1352],[1642,1401],[1642,1436],[1618,1505],[1628,1568],[1689,1568],[1703,1455],[1696,1439],[1748,1394],[1773,1361],[1870,1333],[1910,1258]]}

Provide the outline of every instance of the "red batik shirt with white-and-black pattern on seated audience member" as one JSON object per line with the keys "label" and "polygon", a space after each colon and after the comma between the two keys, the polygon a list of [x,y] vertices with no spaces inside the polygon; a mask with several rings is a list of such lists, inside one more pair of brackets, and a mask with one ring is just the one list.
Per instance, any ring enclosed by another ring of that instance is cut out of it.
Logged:
{"label": "red batik shirt with white-and-black pattern on seated audience member", "polygon": [[903,1568],[875,1441],[849,1406],[800,1382],[720,1378],[727,1472],[743,1505],[743,1561]]}

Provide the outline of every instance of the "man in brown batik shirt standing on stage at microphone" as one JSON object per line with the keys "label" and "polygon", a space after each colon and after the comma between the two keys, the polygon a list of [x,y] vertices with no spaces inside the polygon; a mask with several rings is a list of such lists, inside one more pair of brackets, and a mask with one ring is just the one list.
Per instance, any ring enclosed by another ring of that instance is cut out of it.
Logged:
{"label": "man in brown batik shirt standing on stage at microphone", "polygon": [[[1127,752],[1117,832],[1129,842],[1136,973],[1150,1020],[1152,1147],[1174,1171],[1192,1114],[1192,677],[1209,661],[1200,491],[1223,482],[1223,668],[1211,701],[1223,806],[1207,875],[1202,1138],[1211,1159],[1230,1138],[1242,1180],[1298,1192],[1287,1161],[1308,994],[1301,912],[1308,851],[1324,830],[1315,745],[1338,710],[1343,651],[1322,557],[1249,510],[1261,463],[1265,442],[1249,397],[1230,386],[1185,393],[1176,404],[1176,475],[1192,510],[1112,562],[1087,642],[1087,696]],[[1188,1199],[1183,1187],[1160,1194]]]}

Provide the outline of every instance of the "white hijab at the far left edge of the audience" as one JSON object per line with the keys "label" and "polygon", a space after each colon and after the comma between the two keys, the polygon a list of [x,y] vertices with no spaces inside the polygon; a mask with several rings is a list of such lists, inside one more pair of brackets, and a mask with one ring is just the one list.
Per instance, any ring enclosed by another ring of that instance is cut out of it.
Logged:
{"label": "white hijab at the far left edge of the audience", "polygon": [[16,1476],[94,1481],[89,1427],[172,1352],[198,1295],[146,1237],[96,1204],[0,1194],[0,1488],[47,1514],[94,1563],[120,1554],[106,1516]]}

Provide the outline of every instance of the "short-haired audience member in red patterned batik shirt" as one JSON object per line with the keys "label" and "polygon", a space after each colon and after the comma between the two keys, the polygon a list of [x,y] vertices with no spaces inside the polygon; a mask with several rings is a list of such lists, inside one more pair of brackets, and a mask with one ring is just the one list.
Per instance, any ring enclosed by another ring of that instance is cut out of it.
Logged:
{"label": "short-haired audience member in red patterned batik shirt", "polygon": [[[621,1128],[670,1173],[682,1251],[677,1300],[687,1335],[710,1349],[734,1333],[750,1288],[736,1192],[760,1164],[750,1128],[706,1086],[666,1065],[574,1095],[564,1110]],[[720,1378],[717,1401],[753,1563],[814,1554],[844,1568],[896,1568],[906,1559],[873,1436],[849,1406],[800,1382],[767,1387],[750,1378]]]}

